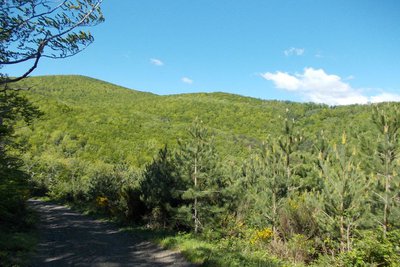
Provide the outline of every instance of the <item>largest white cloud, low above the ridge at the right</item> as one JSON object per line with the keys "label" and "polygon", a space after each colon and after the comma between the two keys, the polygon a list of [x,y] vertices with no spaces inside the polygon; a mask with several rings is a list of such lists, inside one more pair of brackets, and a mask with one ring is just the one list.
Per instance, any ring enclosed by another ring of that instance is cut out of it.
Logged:
{"label": "largest white cloud, low above the ridge at the right", "polygon": [[337,75],[327,74],[323,69],[305,68],[303,74],[277,71],[261,76],[272,81],[275,87],[300,94],[305,101],[329,105],[366,104],[368,102],[400,101],[400,95],[381,93],[365,96]]}

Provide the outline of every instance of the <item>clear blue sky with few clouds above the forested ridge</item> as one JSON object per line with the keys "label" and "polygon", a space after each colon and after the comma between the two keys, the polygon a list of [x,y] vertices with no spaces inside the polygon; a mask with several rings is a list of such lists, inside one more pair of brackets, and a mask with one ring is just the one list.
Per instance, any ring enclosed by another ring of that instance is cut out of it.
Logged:
{"label": "clear blue sky with few clouds above the forested ridge", "polygon": [[80,74],[156,94],[400,101],[398,0],[104,0],[103,11],[93,45],[41,61],[34,75]]}

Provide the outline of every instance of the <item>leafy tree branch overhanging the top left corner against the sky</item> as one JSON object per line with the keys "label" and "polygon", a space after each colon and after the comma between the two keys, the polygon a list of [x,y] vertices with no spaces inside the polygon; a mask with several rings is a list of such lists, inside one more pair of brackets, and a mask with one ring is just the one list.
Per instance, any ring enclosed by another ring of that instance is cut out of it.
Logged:
{"label": "leafy tree branch overhanging the top left corner against the sky", "polygon": [[104,21],[102,0],[0,0],[0,68],[29,63],[17,77],[1,74],[0,85],[22,80],[42,57],[73,56],[93,42],[82,27]]}

